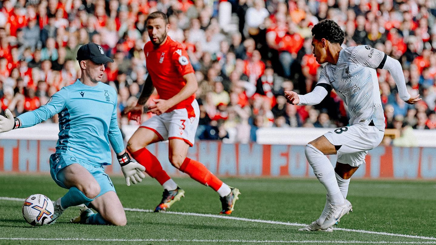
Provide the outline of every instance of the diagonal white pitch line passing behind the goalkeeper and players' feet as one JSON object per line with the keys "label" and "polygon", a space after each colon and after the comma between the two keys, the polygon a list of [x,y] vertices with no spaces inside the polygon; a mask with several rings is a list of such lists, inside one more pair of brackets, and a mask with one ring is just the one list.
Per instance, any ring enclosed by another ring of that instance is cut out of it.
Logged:
{"label": "diagonal white pitch line passing behind the goalkeeper and players' feet", "polygon": [[[0,200],[24,201],[24,199],[22,199],[22,198],[15,198],[15,197],[0,197]],[[132,211],[132,212],[153,213],[153,210],[150,210],[150,209],[124,208],[124,210],[125,211]],[[273,225],[290,225],[290,226],[300,226],[300,227],[306,226],[306,224],[300,224],[300,223],[252,219],[252,218],[240,218],[240,217],[223,216],[223,215],[217,215],[217,214],[199,214],[199,213],[175,212],[175,211],[165,211],[162,213],[164,213],[164,214],[179,214],[179,215],[187,215],[187,216],[197,216],[197,217],[207,217],[207,218],[221,218],[221,219],[230,219],[230,220],[237,220],[237,221],[248,221],[248,222],[256,222],[256,223],[273,224]],[[395,233],[380,232],[380,231],[365,231],[365,230],[355,230],[355,229],[346,229],[346,228],[333,228],[333,229],[337,230],[337,231],[351,231],[351,232],[366,233],[366,234],[388,235],[388,236],[417,238],[417,239],[435,240],[436,241],[436,238],[426,237],[426,236],[404,235],[404,234],[395,234]]]}

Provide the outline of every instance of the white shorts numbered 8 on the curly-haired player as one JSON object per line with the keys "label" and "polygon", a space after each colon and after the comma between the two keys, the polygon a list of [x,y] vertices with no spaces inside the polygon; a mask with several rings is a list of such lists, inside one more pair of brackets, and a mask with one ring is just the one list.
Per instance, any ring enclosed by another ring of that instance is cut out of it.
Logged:
{"label": "white shorts numbered 8 on the curly-haired player", "polygon": [[334,129],[324,134],[334,146],[341,146],[337,150],[337,162],[359,167],[365,162],[368,150],[377,147],[383,140],[385,132],[375,126],[354,124]]}

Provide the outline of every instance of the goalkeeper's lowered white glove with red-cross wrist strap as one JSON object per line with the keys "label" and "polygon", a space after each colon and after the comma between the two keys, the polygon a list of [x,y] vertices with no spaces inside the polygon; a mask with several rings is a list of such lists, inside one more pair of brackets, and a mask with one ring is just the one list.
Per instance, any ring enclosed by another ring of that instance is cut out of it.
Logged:
{"label": "goalkeeper's lowered white glove with red-cross wrist strap", "polygon": [[143,173],[143,171],[145,171],[145,167],[135,161],[132,161],[127,152],[121,156],[117,156],[116,158],[118,159],[121,170],[126,178],[127,186],[130,186],[130,180],[133,184],[136,184],[145,178],[145,174]]}

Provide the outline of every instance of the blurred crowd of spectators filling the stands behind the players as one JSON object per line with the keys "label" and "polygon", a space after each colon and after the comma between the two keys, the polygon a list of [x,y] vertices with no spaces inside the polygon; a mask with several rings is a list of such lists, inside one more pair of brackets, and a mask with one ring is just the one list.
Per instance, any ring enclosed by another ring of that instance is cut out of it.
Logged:
{"label": "blurred crowd of spectators filling the stands behind the players", "polygon": [[19,115],[44,105],[80,77],[76,53],[94,42],[114,59],[102,82],[118,91],[120,123],[137,124],[121,112],[136,103],[147,76],[144,21],[154,11],[168,15],[168,34],[194,67],[197,139],[247,143],[261,127],[346,126],[347,108],[334,91],[314,106],[283,96],[316,84],[322,67],[310,29],[323,19],[343,27],[344,48],[366,44],[398,59],[409,93],[423,98],[402,102],[392,77],[377,70],[387,128],[436,128],[434,0],[3,0],[1,110]]}

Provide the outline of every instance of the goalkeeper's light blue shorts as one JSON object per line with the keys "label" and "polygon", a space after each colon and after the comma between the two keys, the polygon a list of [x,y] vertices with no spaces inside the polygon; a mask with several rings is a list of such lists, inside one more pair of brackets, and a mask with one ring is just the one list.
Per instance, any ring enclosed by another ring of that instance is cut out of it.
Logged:
{"label": "goalkeeper's light blue shorts", "polygon": [[61,170],[74,163],[80,164],[82,167],[88,170],[90,174],[92,174],[95,180],[97,180],[97,183],[100,185],[100,193],[97,197],[105,194],[108,191],[116,192],[115,188],[113,187],[112,180],[105,173],[102,165],[96,166],[95,164],[83,159],[78,159],[62,153],[54,153],[50,156],[50,174],[51,178],[53,178],[54,182],[56,182],[58,186],[69,189],[63,183],[65,177],[63,176]]}

